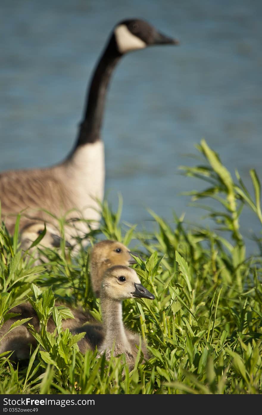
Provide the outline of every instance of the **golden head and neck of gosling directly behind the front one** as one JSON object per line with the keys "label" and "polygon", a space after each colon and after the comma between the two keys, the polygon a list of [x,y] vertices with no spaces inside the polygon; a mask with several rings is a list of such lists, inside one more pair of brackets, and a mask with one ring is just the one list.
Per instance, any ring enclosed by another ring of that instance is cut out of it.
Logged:
{"label": "golden head and neck of gosling directly behind the front one", "polygon": [[121,242],[117,241],[100,241],[94,245],[91,251],[90,277],[93,293],[96,297],[100,295],[100,287],[104,272],[107,268],[114,265],[131,265],[136,264],[132,258],[137,256]]}

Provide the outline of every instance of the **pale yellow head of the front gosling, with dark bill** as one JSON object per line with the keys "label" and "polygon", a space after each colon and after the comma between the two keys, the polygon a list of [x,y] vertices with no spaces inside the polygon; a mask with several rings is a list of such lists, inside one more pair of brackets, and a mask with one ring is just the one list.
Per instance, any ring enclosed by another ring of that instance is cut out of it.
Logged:
{"label": "pale yellow head of the front gosling, with dark bill", "polygon": [[148,298],[150,300],[155,298],[142,286],[136,271],[122,265],[112,266],[105,271],[101,284],[101,297],[116,301],[126,298]]}

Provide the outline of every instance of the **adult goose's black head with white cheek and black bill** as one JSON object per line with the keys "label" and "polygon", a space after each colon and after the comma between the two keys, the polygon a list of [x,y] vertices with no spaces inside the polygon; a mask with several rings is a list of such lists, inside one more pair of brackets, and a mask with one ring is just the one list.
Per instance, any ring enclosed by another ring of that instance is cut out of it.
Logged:
{"label": "adult goose's black head with white cheek and black bill", "polygon": [[147,46],[170,44],[177,45],[177,39],[167,37],[158,32],[145,20],[129,19],[116,24],[113,32],[116,47],[120,54],[125,54],[136,49],[144,49]]}

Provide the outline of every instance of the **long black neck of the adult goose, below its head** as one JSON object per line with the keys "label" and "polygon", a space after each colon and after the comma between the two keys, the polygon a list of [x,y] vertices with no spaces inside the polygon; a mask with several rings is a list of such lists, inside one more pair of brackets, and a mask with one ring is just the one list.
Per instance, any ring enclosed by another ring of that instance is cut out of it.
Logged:
{"label": "long black neck of the adult goose, below its head", "polygon": [[112,72],[121,56],[113,34],[97,64],[90,83],[84,119],[80,124],[76,147],[94,143],[100,139],[107,88]]}

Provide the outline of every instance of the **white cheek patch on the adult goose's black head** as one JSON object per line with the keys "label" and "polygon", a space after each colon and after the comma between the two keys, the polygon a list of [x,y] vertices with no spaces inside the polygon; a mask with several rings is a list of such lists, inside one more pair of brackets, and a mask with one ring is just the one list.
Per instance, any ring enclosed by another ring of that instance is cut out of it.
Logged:
{"label": "white cheek patch on the adult goose's black head", "polygon": [[119,52],[121,53],[126,53],[136,49],[143,49],[146,47],[146,42],[129,32],[129,29],[125,24],[117,26],[114,30],[114,34],[116,37],[116,44]]}

